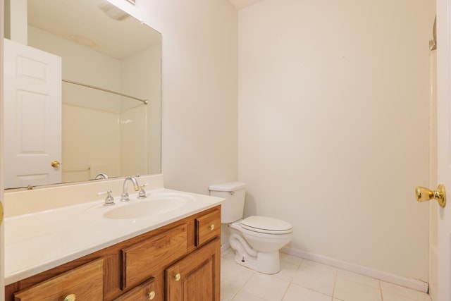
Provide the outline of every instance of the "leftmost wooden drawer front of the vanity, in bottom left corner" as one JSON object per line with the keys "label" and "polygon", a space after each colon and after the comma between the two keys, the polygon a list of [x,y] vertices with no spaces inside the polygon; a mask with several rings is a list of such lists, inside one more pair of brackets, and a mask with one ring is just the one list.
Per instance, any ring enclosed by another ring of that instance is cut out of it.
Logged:
{"label": "leftmost wooden drawer front of the vanity, in bottom left corner", "polygon": [[73,295],[77,300],[103,300],[104,259],[98,259],[21,290],[15,293],[14,297],[16,301],[65,300],[69,295]]}

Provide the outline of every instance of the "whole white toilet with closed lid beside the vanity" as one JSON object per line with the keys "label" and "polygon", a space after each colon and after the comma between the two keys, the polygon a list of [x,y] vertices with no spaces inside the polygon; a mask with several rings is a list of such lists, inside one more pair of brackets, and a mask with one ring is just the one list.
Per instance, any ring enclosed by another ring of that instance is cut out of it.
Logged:
{"label": "whole white toilet with closed lid beside the vanity", "polygon": [[267,216],[242,219],[246,185],[228,182],[211,185],[210,195],[226,199],[221,204],[221,223],[230,230],[229,243],[235,262],[264,274],[280,271],[279,250],[292,239],[293,228],[287,221]]}

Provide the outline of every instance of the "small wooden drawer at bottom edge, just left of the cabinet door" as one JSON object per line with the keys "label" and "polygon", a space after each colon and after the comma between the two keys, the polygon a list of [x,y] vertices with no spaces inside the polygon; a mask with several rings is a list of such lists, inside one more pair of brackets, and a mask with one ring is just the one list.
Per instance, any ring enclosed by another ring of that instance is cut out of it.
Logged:
{"label": "small wooden drawer at bottom edge, just left of the cabinet door", "polygon": [[121,295],[121,297],[116,298],[114,301],[164,301],[163,288],[163,275],[157,278],[152,277],[127,293]]}

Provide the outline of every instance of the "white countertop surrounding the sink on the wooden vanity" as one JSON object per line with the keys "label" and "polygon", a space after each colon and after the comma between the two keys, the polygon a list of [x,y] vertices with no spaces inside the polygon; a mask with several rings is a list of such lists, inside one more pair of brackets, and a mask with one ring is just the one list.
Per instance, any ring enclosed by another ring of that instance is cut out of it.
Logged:
{"label": "white countertop surrounding the sink on the wooden vanity", "polygon": [[[97,200],[5,219],[5,284],[47,271],[73,259],[178,221],[221,204],[223,199],[165,188],[150,190],[147,199],[119,202],[110,207]],[[136,202],[164,202],[164,197],[188,199],[183,207],[139,219],[109,219],[106,211]]]}

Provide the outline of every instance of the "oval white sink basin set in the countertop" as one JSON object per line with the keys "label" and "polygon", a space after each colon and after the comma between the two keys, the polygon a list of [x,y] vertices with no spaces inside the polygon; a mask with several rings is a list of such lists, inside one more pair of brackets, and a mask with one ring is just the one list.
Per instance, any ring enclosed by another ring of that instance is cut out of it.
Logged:
{"label": "oval white sink basin set in the countertop", "polygon": [[130,199],[121,206],[104,213],[107,219],[144,219],[155,214],[165,214],[185,206],[190,197],[174,195],[150,199]]}

